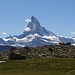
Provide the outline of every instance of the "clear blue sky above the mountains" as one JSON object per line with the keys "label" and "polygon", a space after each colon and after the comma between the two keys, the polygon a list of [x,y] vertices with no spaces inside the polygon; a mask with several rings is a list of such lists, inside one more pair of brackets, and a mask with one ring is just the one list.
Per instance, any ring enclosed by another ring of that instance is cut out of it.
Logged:
{"label": "clear blue sky above the mountains", "polygon": [[56,35],[75,36],[75,0],[0,0],[0,38],[23,33],[31,16]]}

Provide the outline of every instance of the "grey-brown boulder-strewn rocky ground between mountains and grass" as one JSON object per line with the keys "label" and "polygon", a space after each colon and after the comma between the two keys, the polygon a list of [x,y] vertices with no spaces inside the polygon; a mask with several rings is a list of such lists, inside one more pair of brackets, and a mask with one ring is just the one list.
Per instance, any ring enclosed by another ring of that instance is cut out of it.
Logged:
{"label": "grey-brown boulder-strewn rocky ground between mountains and grass", "polygon": [[[9,52],[0,53],[3,59],[34,59],[34,58],[75,58],[73,45],[46,45],[37,47],[12,48]],[[14,58],[14,55],[16,58]],[[11,56],[11,57],[10,57]],[[19,57],[18,57],[19,56]],[[12,58],[11,58],[12,59]]]}

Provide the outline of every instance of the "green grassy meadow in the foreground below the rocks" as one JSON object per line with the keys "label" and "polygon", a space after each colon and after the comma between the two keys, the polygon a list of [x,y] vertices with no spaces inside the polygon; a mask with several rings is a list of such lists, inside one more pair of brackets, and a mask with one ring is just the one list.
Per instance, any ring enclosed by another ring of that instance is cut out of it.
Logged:
{"label": "green grassy meadow in the foreground below the rocks", "polygon": [[0,64],[0,75],[75,75],[75,59],[9,60]]}

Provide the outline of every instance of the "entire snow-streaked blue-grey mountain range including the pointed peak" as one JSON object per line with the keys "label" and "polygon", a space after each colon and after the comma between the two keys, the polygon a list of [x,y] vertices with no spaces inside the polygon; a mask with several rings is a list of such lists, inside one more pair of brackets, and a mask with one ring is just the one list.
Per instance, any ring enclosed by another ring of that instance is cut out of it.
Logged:
{"label": "entire snow-streaked blue-grey mountain range including the pointed peak", "polygon": [[59,42],[71,42],[74,44],[75,38],[66,38],[55,35],[53,32],[42,27],[34,16],[31,17],[31,21],[21,35],[0,38],[1,45],[10,45],[16,47],[43,46],[59,44]]}

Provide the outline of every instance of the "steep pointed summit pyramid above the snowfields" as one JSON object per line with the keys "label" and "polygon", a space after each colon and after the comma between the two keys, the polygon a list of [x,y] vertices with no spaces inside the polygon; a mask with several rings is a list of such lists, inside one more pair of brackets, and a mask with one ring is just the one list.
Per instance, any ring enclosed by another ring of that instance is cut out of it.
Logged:
{"label": "steep pointed summit pyramid above the snowfields", "polygon": [[24,30],[24,35],[35,34],[35,33],[37,33],[41,36],[54,35],[54,33],[50,32],[50,31],[46,30],[44,27],[42,27],[36,17],[32,16],[31,22],[28,23],[27,27]]}

